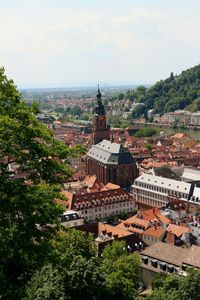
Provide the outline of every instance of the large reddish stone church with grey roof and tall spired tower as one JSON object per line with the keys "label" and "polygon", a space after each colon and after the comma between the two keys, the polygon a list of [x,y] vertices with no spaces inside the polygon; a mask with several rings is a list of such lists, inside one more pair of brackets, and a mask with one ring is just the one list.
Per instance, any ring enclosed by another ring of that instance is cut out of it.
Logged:
{"label": "large reddish stone church with grey roof and tall spired tower", "polygon": [[93,146],[87,153],[87,173],[108,182],[129,188],[138,177],[138,169],[131,153],[122,145],[110,141],[110,126],[98,87],[93,117]]}

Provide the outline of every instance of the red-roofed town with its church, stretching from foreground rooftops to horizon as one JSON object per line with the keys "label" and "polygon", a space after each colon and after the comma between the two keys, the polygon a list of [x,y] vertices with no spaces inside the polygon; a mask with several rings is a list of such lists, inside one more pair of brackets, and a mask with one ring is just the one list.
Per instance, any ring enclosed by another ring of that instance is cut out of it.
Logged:
{"label": "red-roofed town with its church, stretching from foreground rooftops to horizon", "polygon": [[187,276],[188,267],[200,268],[200,140],[183,131],[198,129],[200,112],[148,111],[151,122],[131,120],[137,103],[120,98],[121,90],[102,90],[67,99],[63,91],[58,98],[39,93],[37,118],[59,141],[84,149],[67,158],[73,176],[63,183],[67,200],[56,200],[65,209],[61,223],[93,233],[99,255],[114,240],[125,241],[140,255],[145,291],[155,274]]}

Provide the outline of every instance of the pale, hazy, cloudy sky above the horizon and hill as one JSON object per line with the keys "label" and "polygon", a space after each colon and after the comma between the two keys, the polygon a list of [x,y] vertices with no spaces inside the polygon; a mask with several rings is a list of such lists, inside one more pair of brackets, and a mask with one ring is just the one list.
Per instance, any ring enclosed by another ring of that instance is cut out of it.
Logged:
{"label": "pale, hazy, cloudy sky above the horizon and hill", "polygon": [[0,66],[20,88],[152,84],[199,63],[199,0],[0,0]]}

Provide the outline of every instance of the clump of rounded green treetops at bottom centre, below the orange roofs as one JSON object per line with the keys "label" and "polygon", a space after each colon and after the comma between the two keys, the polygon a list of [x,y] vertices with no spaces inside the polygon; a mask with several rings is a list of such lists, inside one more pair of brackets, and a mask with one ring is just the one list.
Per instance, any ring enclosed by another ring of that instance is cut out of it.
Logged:
{"label": "clump of rounded green treetops at bottom centre, below the orange roofs", "polygon": [[[75,253],[68,252],[66,245],[73,246]],[[139,258],[128,255],[124,246],[114,242],[105,248],[103,258],[98,258],[90,237],[75,230],[62,234],[55,256],[48,258],[51,263],[29,281],[25,299],[136,299]],[[55,281],[50,273],[55,274]]]}

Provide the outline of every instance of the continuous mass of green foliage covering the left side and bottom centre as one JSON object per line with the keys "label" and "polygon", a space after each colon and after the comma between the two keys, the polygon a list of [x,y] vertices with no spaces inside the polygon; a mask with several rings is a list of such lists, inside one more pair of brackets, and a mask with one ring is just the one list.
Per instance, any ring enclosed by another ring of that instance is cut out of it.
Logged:
{"label": "continuous mass of green foliage covering the left side and bottom centre", "polygon": [[135,299],[139,260],[124,243],[98,258],[91,236],[58,224],[63,159],[82,149],[56,141],[36,112],[0,69],[0,298]]}

